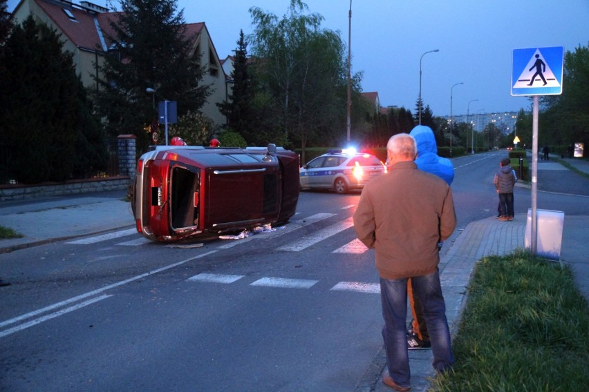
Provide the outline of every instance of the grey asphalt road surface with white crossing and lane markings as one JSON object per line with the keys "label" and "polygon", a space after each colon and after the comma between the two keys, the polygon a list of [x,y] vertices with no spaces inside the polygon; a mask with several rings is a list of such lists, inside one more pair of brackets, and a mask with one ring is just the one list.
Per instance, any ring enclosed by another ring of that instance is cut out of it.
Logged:
{"label": "grey asphalt road surface with white crossing and lane markings", "polygon": [[[496,214],[501,157],[454,160],[458,230],[442,252]],[[19,281],[0,292],[0,390],[353,391],[382,345],[358,197],[301,193],[290,224],[247,239],[165,246],[131,229],[1,254]],[[586,197],[538,202],[589,215]],[[516,214],[529,206],[516,188]]]}

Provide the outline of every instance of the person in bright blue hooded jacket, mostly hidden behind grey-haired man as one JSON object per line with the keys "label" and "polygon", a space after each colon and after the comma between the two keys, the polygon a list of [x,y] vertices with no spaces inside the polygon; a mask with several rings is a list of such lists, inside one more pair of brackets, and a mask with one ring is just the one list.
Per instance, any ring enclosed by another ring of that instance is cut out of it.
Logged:
{"label": "person in bright blue hooded jacket, mostly hidden behind grey-haired man", "polygon": [[[454,166],[450,159],[438,155],[436,137],[433,135],[431,128],[418,125],[411,130],[409,135],[415,138],[417,144],[418,156],[415,159],[415,164],[417,164],[418,169],[435,174],[447,182],[448,185],[451,185],[454,180]],[[425,317],[417,297],[413,295],[411,278],[407,282],[407,297],[409,297],[411,315],[413,316],[411,325],[407,329],[407,347],[409,350],[431,349]]]}

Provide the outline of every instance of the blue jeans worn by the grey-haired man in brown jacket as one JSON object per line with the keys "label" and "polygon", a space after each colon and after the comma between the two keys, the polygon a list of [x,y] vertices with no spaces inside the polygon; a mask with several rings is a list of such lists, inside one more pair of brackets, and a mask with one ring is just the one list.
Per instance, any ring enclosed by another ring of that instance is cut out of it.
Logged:
{"label": "blue jeans worn by the grey-haired man in brown jacket", "polygon": [[[433,369],[444,372],[454,364],[446,305],[438,271],[426,276],[411,277],[413,293],[422,304],[433,351]],[[409,354],[407,351],[407,278],[380,278],[380,297],[384,327],[382,338],[389,374],[400,386],[409,386]]]}

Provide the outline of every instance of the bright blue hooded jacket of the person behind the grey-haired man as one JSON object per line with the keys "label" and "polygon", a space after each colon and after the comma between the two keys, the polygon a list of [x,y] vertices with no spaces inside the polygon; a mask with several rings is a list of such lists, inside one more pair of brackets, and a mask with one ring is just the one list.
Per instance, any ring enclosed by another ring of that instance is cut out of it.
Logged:
{"label": "bright blue hooded jacket of the person behind the grey-haired man", "polygon": [[454,166],[450,159],[438,156],[438,145],[431,128],[418,125],[409,135],[413,136],[417,142],[418,157],[415,159],[415,164],[418,168],[437,175],[451,185],[454,180]]}

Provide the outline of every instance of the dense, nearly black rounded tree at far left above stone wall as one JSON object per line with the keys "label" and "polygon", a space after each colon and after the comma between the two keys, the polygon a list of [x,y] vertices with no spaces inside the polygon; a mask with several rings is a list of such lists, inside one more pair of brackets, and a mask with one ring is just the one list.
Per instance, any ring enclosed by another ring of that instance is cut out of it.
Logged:
{"label": "dense, nearly black rounded tree at far left above stone wall", "polygon": [[10,174],[37,183],[103,168],[100,125],[55,30],[28,17],[3,49],[0,121],[10,146]]}

